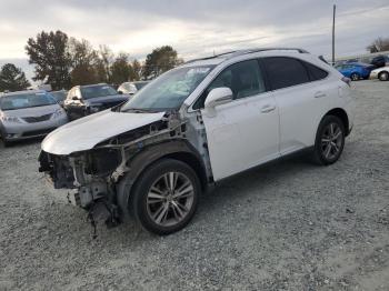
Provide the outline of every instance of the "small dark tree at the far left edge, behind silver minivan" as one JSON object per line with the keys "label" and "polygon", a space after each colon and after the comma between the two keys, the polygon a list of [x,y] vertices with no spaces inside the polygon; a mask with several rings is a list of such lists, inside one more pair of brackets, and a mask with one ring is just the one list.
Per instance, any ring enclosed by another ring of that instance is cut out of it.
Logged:
{"label": "small dark tree at the far left edge, behind silver minivan", "polygon": [[13,63],[6,63],[0,71],[0,91],[19,91],[30,87],[24,72]]}

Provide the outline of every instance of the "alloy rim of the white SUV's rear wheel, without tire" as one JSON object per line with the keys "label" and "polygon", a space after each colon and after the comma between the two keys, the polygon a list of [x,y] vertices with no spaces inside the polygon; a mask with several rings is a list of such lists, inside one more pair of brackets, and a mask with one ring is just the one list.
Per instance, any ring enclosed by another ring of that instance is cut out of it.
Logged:
{"label": "alloy rim of the white SUV's rear wheel, without tire", "polygon": [[321,136],[321,152],[327,160],[333,160],[341,151],[343,132],[339,124],[329,123]]}

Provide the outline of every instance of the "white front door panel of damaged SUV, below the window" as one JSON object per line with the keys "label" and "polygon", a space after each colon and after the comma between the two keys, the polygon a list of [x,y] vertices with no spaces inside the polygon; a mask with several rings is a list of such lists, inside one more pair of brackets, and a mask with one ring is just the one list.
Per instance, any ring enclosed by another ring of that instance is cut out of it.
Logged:
{"label": "white front door panel of damaged SUV, below the window", "polygon": [[279,157],[278,107],[271,92],[215,110],[215,117],[201,112],[216,181]]}

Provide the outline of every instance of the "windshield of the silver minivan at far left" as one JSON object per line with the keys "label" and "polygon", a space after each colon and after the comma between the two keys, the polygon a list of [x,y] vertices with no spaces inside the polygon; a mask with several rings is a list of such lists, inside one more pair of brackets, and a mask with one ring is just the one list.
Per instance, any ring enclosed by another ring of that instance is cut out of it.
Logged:
{"label": "windshield of the silver minivan at far left", "polygon": [[0,98],[1,110],[16,110],[31,107],[44,107],[57,104],[56,99],[46,92],[20,93],[3,96]]}

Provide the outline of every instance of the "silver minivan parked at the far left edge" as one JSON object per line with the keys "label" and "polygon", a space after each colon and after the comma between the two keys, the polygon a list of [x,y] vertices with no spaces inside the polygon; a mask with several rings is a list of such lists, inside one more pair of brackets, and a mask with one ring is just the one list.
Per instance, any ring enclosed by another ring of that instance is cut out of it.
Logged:
{"label": "silver minivan parked at the far left edge", "polygon": [[46,91],[19,91],[0,96],[0,134],[11,141],[37,138],[68,122],[64,110]]}

